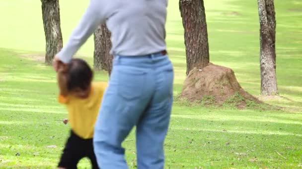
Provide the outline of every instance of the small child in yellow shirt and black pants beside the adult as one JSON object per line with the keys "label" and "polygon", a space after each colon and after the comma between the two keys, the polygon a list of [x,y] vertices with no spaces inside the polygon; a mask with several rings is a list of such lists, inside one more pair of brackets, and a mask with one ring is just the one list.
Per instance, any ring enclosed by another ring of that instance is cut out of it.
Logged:
{"label": "small child in yellow shirt and black pants beside the adult", "polygon": [[71,125],[71,134],[63,150],[59,169],[76,169],[83,157],[88,157],[92,168],[98,169],[92,136],[107,84],[91,83],[92,77],[92,70],[82,59],[72,59],[67,66],[61,64],[59,67],[59,102],[67,106]]}

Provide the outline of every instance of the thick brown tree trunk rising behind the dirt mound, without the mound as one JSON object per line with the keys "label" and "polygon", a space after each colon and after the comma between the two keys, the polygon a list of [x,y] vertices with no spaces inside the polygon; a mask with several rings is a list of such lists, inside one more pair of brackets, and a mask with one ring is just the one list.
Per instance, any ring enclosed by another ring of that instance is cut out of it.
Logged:
{"label": "thick brown tree trunk rising behind the dirt mound, without the mound", "polygon": [[184,27],[187,75],[194,68],[202,69],[209,64],[209,42],[206,13],[203,0],[179,0]]}

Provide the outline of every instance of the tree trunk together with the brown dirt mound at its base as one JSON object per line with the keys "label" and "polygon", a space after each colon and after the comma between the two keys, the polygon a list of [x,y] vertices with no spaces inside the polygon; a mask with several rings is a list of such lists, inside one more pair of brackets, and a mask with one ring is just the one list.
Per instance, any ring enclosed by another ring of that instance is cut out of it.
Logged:
{"label": "tree trunk together with the brown dirt mound at its base", "polygon": [[207,21],[203,0],[179,0],[186,46],[187,78],[181,97],[190,101],[222,105],[231,102],[239,108],[247,100],[260,102],[244,91],[233,70],[209,63]]}

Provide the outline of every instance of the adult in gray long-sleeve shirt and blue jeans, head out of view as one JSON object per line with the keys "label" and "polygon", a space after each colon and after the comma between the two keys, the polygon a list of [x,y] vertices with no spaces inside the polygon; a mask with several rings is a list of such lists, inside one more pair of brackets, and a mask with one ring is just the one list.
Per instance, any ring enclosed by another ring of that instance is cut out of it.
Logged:
{"label": "adult in gray long-sleeve shirt and blue jeans, head out of view", "polygon": [[94,128],[94,152],[101,169],[127,169],[121,146],[136,126],[137,166],[162,169],[173,88],[166,55],[167,0],[90,0],[54,68],[69,63],[96,27],[106,22],[115,56]]}

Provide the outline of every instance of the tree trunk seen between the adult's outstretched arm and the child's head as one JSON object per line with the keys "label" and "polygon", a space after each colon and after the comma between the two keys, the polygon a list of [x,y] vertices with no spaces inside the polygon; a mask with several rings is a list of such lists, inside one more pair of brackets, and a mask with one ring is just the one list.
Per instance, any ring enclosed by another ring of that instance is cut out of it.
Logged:
{"label": "tree trunk seen between the adult's outstretched arm and the child's head", "polygon": [[111,33],[106,24],[99,25],[94,32],[94,68],[108,71],[110,76],[112,69]]}

